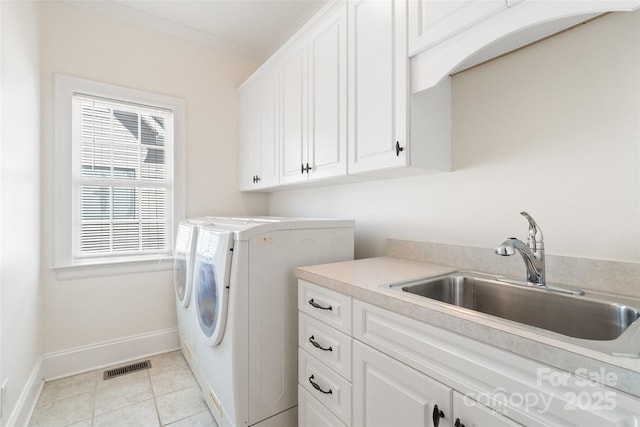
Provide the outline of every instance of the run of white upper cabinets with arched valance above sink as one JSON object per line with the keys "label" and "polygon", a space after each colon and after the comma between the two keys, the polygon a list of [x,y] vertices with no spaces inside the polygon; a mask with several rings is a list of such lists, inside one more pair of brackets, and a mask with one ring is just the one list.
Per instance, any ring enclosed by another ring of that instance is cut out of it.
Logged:
{"label": "run of white upper cabinets with arched valance above sink", "polygon": [[640,0],[330,0],[238,90],[240,189],[451,170],[454,72]]}

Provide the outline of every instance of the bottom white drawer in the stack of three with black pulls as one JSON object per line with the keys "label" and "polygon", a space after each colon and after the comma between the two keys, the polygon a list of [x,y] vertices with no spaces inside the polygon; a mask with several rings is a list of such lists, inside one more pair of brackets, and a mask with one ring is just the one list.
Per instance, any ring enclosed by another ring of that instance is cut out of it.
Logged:
{"label": "bottom white drawer in the stack of three with black pulls", "polygon": [[298,382],[343,423],[351,425],[351,383],[302,350]]}

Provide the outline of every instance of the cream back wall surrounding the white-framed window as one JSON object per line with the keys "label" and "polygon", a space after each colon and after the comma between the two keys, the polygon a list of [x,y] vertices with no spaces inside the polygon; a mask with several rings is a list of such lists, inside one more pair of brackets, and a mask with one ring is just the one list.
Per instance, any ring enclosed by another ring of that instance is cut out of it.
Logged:
{"label": "cream back wall surrounding the white-framed window", "polygon": [[53,74],[186,101],[186,214],[265,214],[268,196],[238,192],[235,89],[257,67],[60,2],[41,3],[44,353],[176,327],[169,270],[58,280],[53,263]]}

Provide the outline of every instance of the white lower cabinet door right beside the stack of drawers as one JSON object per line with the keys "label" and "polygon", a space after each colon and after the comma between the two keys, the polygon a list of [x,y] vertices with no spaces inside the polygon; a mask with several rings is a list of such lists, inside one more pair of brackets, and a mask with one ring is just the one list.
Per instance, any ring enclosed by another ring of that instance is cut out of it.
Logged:
{"label": "white lower cabinet door right beside the stack of drawers", "polygon": [[352,375],[354,427],[453,426],[451,388],[356,340]]}

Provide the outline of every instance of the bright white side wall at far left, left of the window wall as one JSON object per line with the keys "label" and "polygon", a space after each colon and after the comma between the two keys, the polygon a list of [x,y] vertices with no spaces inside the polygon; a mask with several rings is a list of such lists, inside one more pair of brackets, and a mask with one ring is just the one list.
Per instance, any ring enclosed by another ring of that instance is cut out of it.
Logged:
{"label": "bright white side wall at far left, left of the window wall", "polygon": [[0,2],[0,382],[7,425],[42,354],[40,330],[40,74],[38,8]]}

